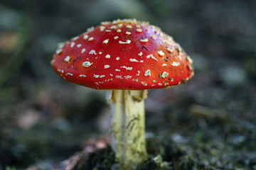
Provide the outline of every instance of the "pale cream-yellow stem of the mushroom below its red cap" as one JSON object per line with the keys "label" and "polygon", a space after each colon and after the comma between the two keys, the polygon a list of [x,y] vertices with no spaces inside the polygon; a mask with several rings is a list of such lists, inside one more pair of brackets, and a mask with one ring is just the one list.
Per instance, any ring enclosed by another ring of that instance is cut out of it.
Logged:
{"label": "pale cream-yellow stem of the mushroom below its red cap", "polygon": [[144,98],[146,90],[113,90],[112,148],[122,169],[134,169],[146,156]]}

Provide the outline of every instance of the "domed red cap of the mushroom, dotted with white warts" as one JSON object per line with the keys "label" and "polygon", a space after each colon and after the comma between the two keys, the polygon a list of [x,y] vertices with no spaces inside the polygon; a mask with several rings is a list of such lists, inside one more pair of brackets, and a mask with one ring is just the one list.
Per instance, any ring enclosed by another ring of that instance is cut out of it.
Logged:
{"label": "domed red cap of the mushroom, dotted with white warts", "polygon": [[92,89],[159,89],[193,76],[192,60],[149,23],[103,22],[61,45],[51,64],[63,79]]}

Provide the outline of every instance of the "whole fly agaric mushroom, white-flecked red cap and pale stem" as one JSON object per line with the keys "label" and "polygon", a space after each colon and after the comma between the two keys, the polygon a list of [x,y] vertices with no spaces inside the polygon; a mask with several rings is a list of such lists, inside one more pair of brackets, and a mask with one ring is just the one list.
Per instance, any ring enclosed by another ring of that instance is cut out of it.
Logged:
{"label": "whole fly agaric mushroom, white-flecked red cap and pale stem", "polygon": [[188,81],[193,77],[192,62],[160,28],[118,19],[60,45],[51,64],[66,81],[111,90],[112,148],[122,168],[133,169],[146,156],[146,89]]}

